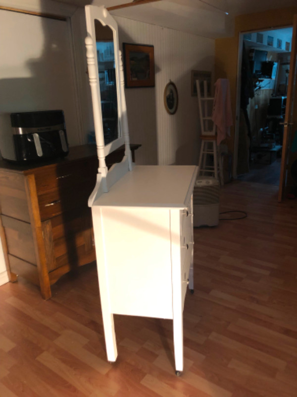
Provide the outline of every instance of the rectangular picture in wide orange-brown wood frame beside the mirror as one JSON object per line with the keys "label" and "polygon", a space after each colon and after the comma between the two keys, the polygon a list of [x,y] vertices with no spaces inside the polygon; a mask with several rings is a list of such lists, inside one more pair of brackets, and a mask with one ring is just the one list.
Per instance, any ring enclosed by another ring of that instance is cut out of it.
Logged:
{"label": "rectangular picture in wide orange-brown wood frame beside the mirror", "polygon": [[153,46],[123,43],[125,87],[154,87]]}

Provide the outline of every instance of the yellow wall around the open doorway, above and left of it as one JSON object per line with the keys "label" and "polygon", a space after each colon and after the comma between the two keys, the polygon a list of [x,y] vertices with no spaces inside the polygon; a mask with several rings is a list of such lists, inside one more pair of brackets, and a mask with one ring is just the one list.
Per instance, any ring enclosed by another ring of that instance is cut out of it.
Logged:
{"label": "yellow wall around the open doorway, above and left of it", "polygon": [[297,13],[297,7],[240,15],[235,18],[234,37],[215,40],[215,79],[228,78],[230,81],[233,127],[231,128],[231,137],[227,139],[227,144],[232,152],[234,151],[239,34],[241,32],[292,26],[295,13]]}

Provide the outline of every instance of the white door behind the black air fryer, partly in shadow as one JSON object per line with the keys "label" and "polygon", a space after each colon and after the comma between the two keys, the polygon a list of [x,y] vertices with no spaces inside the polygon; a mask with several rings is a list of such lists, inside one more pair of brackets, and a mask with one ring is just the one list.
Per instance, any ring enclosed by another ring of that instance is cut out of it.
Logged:
{"label": "white door behind the black air fryer, partly in shadow", "polygon": [[0,10],[0,111],[62,109],[70,146],[80,131],[66,20]]}

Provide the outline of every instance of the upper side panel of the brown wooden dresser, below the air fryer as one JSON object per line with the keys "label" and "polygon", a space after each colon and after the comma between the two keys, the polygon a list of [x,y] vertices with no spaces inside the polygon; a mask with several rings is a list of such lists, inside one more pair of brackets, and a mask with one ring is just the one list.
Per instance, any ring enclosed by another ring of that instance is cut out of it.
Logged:
{"label": "upper side panel of the brown wooden dresser, below the air fryer", "polygon": [[23,174],[0,171],[0,211],[3,215],[30,222]]}

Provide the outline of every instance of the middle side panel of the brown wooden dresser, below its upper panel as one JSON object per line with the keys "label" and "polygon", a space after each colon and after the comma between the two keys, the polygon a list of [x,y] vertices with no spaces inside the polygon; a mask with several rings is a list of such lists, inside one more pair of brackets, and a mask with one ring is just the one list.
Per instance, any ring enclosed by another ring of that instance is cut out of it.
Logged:
{"label": "middle side panel of the brown wooden dresser, below its upper panel", "polygon": [[36,265],[33,235],[30,223],[1,215],[8,254]]}

